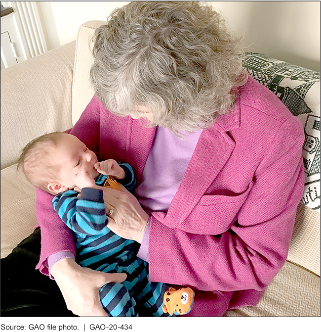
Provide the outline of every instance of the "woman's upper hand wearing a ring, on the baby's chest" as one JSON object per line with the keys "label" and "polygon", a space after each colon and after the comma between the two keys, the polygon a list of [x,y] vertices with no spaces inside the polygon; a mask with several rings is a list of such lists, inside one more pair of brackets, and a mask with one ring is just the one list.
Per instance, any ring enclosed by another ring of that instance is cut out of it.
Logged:
{"label": "woman's upper hand wearing a ring, on the baby's chest", "polygon": [[149,216],[134,195],[121,185],[120,189],[102,188],[108,228],[120,237],[142,243]]}

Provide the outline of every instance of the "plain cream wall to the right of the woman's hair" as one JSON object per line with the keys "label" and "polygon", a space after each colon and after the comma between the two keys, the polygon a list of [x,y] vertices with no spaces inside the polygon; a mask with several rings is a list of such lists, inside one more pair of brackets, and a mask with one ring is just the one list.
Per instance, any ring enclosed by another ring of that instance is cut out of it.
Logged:
{"label": "plain cream wall to the right of the woman's hair", "polygon": [[320,1],[212,1],[250,50],[320,71]]}

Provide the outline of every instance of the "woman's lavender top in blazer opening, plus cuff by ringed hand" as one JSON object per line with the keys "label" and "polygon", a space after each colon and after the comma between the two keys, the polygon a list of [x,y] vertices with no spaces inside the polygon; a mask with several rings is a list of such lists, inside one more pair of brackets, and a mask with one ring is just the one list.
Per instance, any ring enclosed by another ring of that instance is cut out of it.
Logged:
{"label": "woman's lavender top in blazer opening, plus cuff by ringed hand", "polygon": [[[202,130],[184,133],[184,140],[168,129],[158,128],[148,155],[136,197],[147,210],[167,212],[192,158]],[[150,221],[146,225],[138,257],[148,262]]]}

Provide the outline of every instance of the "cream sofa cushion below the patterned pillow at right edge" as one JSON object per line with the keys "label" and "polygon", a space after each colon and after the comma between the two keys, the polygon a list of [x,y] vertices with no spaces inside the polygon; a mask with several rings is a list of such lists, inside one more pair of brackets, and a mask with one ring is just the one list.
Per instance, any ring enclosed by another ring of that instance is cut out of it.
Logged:
{"label": "cream sofa cushion below the patterned pillow at right edge", "polygon": [[287,259],[320,276],[320,214],[301,202]]}

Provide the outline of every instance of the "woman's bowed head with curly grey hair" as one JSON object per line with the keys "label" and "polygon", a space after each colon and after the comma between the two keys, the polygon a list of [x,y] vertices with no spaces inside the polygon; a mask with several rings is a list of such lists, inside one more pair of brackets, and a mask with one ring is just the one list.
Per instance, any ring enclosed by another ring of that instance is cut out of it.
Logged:
{"label": "woman's bowed head with curly grey hair", "polygon": [[96,30],[91,81],[112,113],[139,116],[144,106],[152,126],[193,131],[233,105],[247,77],[240,49],[210,5],[134,1]]}

